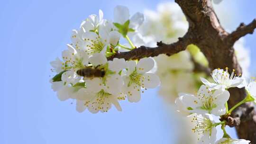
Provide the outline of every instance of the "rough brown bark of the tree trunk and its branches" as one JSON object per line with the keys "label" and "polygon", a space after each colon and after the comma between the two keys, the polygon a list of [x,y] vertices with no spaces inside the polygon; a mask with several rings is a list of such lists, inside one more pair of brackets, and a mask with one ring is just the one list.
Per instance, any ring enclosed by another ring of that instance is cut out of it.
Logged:
{"label": "rough brown bark of the tree trunk and its branches", "polygon": [[[206,56],[210,69],[228,67],[229,72],[235,69],[236,74],[242,73],[233,45],[240,37],[253,33],[256,28],[256,19],[248,25],[241,23],[234,32],[229,34],[221,27],[211,0],[175,0],[175,2],[179,4],[189,22],[188,32],[182,38],[169,45],[160,42],[154,48],[141,46],[129,52],[119,52],[108,59],[112,60],[116,57],[129,60],[159,54],[172,55],[185,50],[187,45],[194,44],[200,47]],[[229,92],[229,108],[246,97],[245,89],[232,88]],[[256,144],[256,111],[251,102],[236,108],[227,119],[229,126],[236,126],[239,138]]]}

